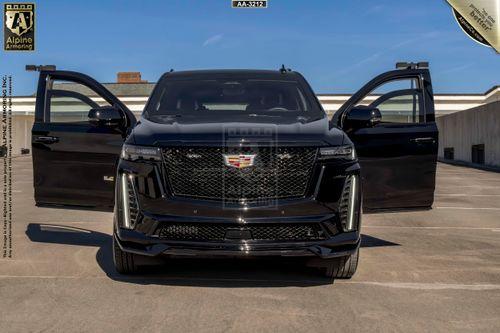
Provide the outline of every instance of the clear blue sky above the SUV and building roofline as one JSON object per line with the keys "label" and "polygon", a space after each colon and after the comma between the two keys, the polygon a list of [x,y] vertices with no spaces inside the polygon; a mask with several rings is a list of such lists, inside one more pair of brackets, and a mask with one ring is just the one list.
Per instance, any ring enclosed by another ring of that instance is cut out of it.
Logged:
{"label": "clear blue sky above the SUV and building roofline", "polygon": [[55,64],[115,82],[186,69],[302,73],[316,93],[353,93],[397,61],[429,61],[437,93],[484,93],[500,84],[500,55],[467,37],[444,0],[35,1],[36,51],[0,51],[14,95],[35,91],[26,64]]}

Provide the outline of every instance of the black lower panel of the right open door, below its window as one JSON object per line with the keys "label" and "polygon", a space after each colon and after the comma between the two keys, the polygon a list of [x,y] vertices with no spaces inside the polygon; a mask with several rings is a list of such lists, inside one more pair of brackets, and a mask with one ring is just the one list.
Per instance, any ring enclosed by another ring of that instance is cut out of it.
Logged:
{"label": "black lower panel of the right open door, below its window", "polygon": [[430,207],[434,198],[435,124],[379,124],[350,135],[363,176],[366,210]]}

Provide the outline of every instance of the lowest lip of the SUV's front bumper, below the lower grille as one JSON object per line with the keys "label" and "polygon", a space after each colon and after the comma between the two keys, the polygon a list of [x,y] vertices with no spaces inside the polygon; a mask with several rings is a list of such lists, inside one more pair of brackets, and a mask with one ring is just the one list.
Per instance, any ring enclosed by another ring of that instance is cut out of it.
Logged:
{"label": "lowest lip of the SUV's front bumper, below the lower grille", "polygon": [[172,257],[319,257],[348,256],[360,245],[358,232],[341,233],[314,242],[187,242],[162,241],[140,232],[118,228],[114,234],[120,249],[143,256]]}

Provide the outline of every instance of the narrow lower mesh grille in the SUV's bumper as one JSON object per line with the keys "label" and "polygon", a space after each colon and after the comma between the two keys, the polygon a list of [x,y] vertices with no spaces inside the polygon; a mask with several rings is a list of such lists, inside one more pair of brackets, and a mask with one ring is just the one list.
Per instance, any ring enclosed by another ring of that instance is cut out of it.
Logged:
{"label": "narrow lower mesh grille in the SUV's bumper", "polygon": [[[236,233],[240,237],[229,236]],[[159,228],[158,236],[174,241],[224,241],[227,239],[267,241],[311,241],[326,239],[319,223],[222,224],[168,223]]]}

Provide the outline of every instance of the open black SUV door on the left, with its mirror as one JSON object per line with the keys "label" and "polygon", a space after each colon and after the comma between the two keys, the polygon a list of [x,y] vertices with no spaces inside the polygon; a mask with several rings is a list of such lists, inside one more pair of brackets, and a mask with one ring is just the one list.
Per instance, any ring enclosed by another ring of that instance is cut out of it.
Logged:
{"label": "open black SUV door on the left, with its mirror", "polygon": [[91,77],[55,66],[40,71],[32,129],[37,206],[113,209],[114,178],[133,113]]}

